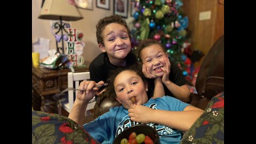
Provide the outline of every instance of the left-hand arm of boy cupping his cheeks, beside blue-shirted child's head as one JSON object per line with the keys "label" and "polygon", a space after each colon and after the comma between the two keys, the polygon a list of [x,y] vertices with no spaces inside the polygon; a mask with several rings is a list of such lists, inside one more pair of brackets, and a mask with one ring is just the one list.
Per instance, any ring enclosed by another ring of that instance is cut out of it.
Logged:
{"label": "left-hand arm of boy cupping his cheeks, beside blue-shirted child's head", "polygon": [[154,78],[155,87],[154,87],[153,98],[155,99],[155,98],[163,97],[163,95],[165,95],[165,92],[164,92],[164,85],[163,85],[161,77],[157,77],[157,76],[151,74],[149,72],[148,68],[146,68],[146,66],[144,64],[142,65],[142,73],[147,78]]}

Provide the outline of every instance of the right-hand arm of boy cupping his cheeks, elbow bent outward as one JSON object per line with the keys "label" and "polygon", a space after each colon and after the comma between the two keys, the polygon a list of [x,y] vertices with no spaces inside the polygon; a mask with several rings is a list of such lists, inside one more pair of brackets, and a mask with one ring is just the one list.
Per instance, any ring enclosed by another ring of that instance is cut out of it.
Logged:
{"label": "right-hand arm of boy cupping his cheeks, elbow bent outward", "polygon": [[178,99],[183,102],[188,102],[190,97],[190,92],[188,89],[188,85],[179,86],[169,79],[171,62],[168,58],[165,59],[166,69],[162,68],[164,75],[162,77],[162,82],[167,87],[167,89]]}

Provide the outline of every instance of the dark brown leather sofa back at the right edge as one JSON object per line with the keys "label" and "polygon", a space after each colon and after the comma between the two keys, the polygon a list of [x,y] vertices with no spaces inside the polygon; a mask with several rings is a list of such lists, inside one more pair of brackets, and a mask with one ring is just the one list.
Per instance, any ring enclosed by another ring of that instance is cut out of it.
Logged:
{"label": "dark brown leather sofa back at the right edge", "polygon": [[190,104],[205,109],[209,101],[224,91],[224,35],[211,47],[199,69],[197,93],[191,93]]}

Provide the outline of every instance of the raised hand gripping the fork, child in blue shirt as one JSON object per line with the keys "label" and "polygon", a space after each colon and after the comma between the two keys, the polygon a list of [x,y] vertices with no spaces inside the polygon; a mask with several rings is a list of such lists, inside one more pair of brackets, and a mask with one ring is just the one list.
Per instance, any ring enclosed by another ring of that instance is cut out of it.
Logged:
{"label": "raised hand gripping the fork, child in blue shirt", "polygon": [[82,91],[78,91],[76,98],[84,101],[89,102],[95,95],[95,93],[99,90],[99,87],[95,87],[96,85],[104,84],[103,81],[99,83],[95,83],[94,81],[83,81],[79,85],[79,89]]}

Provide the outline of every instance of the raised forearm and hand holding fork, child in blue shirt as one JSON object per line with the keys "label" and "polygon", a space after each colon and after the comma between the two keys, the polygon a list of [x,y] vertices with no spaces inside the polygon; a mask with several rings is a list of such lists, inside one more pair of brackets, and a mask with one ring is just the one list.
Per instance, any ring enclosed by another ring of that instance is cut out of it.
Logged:
{"label": "raised forearm and hand holding fork, child in blue shirt", "polygon": [[[103,81],[98,84],[104,84]],[[73,108],[71,109],[68,118],[72,119],[79,125],[83,125],[83,119],[86,107],[89,101],[94,97],[95,92],[99,90],[99,87],[95,87],[98,85],[94,81],[83,81],[79,85],[79,89],[85,91],[78,91],[76,100],[74,102]]]}

